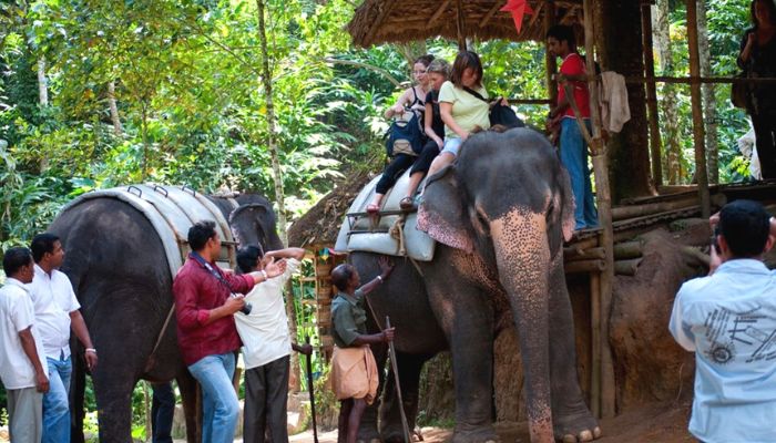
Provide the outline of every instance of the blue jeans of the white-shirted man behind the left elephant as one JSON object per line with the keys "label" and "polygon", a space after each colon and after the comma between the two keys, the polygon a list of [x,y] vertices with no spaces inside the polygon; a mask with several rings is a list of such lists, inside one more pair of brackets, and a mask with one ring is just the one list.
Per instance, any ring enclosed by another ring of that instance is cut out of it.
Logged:
{"label": "blue jeans of the white-shirted man behind the left elephant", "polygon": [[70,357],[59,360],[45,358],[49,367],[49,392],[43,395],[43,440],[42,443],[70,442],[70,374],[73,364]]}

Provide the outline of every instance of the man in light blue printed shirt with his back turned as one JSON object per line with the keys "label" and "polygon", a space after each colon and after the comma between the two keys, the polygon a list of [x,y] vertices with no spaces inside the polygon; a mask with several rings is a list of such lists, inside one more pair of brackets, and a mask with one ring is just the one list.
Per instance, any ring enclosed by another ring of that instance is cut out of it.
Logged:
{"label": "man in light blue printed shirt with his back turned", "polygon": [[[776,272],[769,215],[736,200],[718,214],[712,274],[682,285],[668,329],[695,352],[690,432],[706,443],[776,441]],[[712,217],[712,223],[717,216]]]}

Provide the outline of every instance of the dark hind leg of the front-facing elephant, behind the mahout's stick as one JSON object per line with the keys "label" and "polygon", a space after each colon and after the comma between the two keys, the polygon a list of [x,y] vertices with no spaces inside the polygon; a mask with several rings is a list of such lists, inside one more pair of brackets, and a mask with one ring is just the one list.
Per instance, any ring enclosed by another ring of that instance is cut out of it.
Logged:
{"label": "dark hind leg of the front-facing elephant, behind the mahout's stick", "polygon": [[[404,352],[396,353],[401,400],[410,433],[415,430],[415,421],[418,416],[420,370],[429,358],[431,358],[431,356],[415,356]],[[388,379],[386,380],[384,391],[382,408],[380,409],[380,435],[382,435],[384,442],[404,442],[401,412],[399,411],[399,399],[396,394],[396,381],[392,368],[388,371]]]}

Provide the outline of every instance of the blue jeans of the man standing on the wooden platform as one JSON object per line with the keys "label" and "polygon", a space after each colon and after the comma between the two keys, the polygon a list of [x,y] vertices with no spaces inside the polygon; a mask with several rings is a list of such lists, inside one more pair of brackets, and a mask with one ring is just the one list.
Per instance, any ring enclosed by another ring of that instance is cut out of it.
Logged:
{"label": "blue jeans of the man standing on the wooden platform", "polygon": [[[585,120],[588,131],[590,120]],[[561,120],[561,163],[569,172],[571,190],[574,194],[575,229],[594,227],[599,224],[599,215],[593,200],[593,186],[590,183],[588,167],[588,144],[580,132],[576,119]]]}

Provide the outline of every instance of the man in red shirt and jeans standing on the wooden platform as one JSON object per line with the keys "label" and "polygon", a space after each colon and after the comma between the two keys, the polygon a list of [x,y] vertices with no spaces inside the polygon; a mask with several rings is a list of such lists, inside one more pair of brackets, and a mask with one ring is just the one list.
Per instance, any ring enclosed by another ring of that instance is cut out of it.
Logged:
{"label": "man in red shirt and jeans standing on the wooden platform", "polygon": [[[558,105],[550,111],[549,121],[560,119],[561,125],[561,163],[569,171],[571,188],[574,193],[575,229],[598,225],[598,213],[593,200],[593,187],[588,168],[588,144],[576,123],[574,111],[570,105],[573,99],[584,120],[590,126],[590,92],[588,91],[585,61],[576,52],[576,41],[571,27],[558,24],[547,32],[549,51],[563,60],[558,79]],[[563,82],[568,81],[573,90],[573,97],[566,97]]]}

